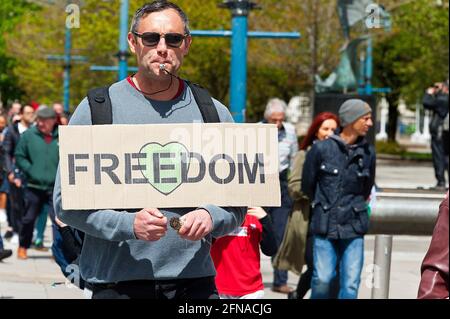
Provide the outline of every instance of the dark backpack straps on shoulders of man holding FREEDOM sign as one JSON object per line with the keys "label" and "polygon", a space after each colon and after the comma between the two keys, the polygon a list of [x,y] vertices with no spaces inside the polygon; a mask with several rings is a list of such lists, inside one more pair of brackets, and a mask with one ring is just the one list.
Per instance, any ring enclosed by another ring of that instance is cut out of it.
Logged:
{"label": "dark backpack straps on shoulders of man holding FREEDOM sign", "polygon": [[[204,123],[219,123],[219,114],[209,92],[198,84],[186,81],[194,95]],[[109,87],[100,87],[88,92],[93,125],[112,124],[112,104]]]}

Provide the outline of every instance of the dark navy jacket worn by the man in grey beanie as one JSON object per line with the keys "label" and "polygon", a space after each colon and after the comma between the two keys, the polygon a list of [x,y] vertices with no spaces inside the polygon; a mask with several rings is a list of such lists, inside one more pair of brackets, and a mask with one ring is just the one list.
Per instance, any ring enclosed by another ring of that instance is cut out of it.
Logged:
{"label": "dark navy jacket worn by the man in grey beanie", "polygon": [[375,161],[365,138],[347,145],[332,135],[312,146],[302,174],[302,191],[311,200],[311,234],[346,239],[367,233]]}

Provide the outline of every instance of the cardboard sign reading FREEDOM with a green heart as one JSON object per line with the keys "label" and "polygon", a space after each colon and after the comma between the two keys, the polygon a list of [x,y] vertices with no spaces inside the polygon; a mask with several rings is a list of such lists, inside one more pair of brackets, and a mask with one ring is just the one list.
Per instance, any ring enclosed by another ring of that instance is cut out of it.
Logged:
{"label": "cardboard sign reading FREEDOM with a green heart", "polygon": [[275,125],[59,130],[63,209],[280,206]]}

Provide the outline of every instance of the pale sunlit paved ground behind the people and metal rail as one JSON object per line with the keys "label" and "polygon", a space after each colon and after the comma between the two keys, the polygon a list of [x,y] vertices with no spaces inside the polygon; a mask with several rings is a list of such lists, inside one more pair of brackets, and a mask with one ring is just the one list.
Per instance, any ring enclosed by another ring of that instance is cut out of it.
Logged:
{"label": "pale sunlit paved ground behind the people and metal rail", "polygon": [[[378,161],[377,184],[380,187],[428,188],[434,185],[433,168],[430,163]],[[2,233],[5,225],[2,226]],[[50,234],[48,231],[47,234]],[[51,235],[48,235],[50,237]],[[365,263],[362,273],[359,298],[370,298],[370,271],[373,262],[374,236],[366,236]],[[415,298],[420,281],[420,264],[428,249],[429,236],[394,236],[390,298]],[[47,246],[50,242],[45,243]],[[29,250],[26,261],[16,258],[17,245],[5,241],[6,248],[14,250],[14,256],[0,262],[1,298],[83,298],[76,288],[67,287],[65,278],[51,258],[50,251]],[[272,268],[268,257],[262,258],[263,280],[267,299],[284,299],[285,295],[270,290]],[[298,276],[289,274],[289,285],[295,287]]]}

